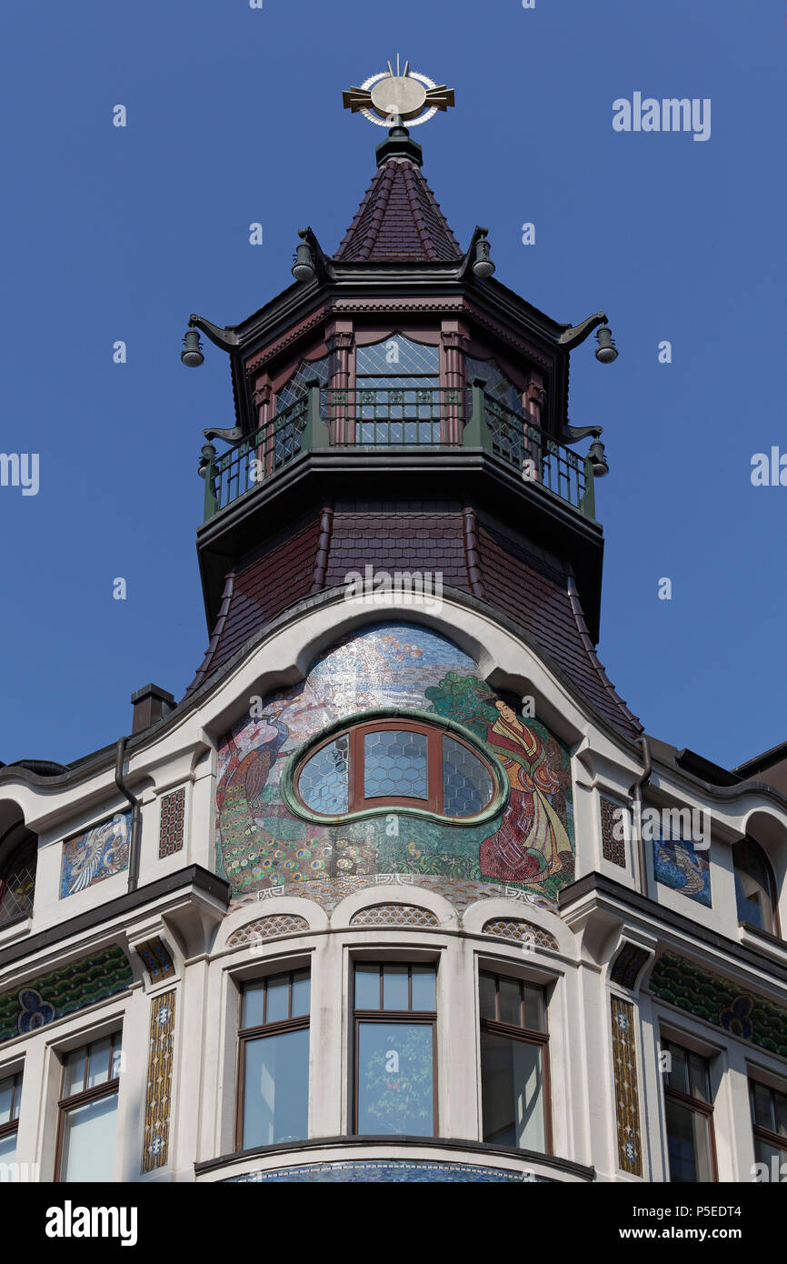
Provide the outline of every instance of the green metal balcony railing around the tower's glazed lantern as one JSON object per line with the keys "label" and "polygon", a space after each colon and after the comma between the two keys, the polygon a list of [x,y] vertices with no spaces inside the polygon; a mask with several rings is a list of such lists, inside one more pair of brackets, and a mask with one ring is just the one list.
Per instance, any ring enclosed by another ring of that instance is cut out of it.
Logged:
{"label": "green metal balcony railing around the tower's glazed lantern", "polygon": [[212,445],[203,447],[205,521],[306,453],[424,447],[481,449],[595,521],[589,458],[486,394],[480,379],[467,388],[309,384],[301,399],[221,456]]}

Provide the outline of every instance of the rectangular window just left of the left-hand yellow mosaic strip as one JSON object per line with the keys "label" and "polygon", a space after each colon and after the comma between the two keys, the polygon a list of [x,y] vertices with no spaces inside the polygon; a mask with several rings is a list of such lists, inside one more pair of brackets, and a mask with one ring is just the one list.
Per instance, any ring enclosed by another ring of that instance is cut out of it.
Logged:
{"label": "rectangular window just left of the left-hand yellow mosaic strip", "polygon": [[56,1181],[114,1179],[120,1031],[67,1054],[61,1081]]}

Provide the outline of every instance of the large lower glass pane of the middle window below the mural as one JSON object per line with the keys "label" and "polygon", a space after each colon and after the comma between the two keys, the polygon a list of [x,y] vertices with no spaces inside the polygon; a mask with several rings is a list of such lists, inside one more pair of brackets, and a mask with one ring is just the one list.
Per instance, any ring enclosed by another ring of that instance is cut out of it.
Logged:
{"label": "large lower glass pane of the middle window below the mural", "polygon": [[435,1135],[432,1039],[431,1024],[359,1024],[359,1133]]}

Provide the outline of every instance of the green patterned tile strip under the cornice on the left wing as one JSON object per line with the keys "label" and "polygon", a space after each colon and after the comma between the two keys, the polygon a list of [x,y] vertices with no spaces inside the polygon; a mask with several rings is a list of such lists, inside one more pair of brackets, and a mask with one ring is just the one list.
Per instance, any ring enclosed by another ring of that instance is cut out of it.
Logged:
{"label": "green patterned tile strip under the cornice on the left wing", "polygon": [[131,986],[129,961],[116,944],[0,994],[0,1043],[47,1026]]}

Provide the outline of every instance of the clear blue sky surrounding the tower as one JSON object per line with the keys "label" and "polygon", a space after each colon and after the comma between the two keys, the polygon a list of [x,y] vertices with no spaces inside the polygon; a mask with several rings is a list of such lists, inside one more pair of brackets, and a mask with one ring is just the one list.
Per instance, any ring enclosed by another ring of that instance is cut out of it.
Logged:
{"label": "clear blue sky surrounding the tower", "polygon": [[[749,479],[787,453],[787,0],[9,0],[0,450],[39,453],[40,489],[0,488],[6,762],[77,758],[140,685],[191,680],[201,432],[232,404],[226,358],[184,369],[181,336],[289,284],[303,225],[335,250],[384,134],[341,91],[397,52],[456,90],[417,137],[459,239],[489,225],[498,278],[557,320],[609,313],[620,356],[575,353],[571,420],[605,427],[613,681],[721,763],[787,738],[787,487]],[[635,91],[710,97],[710,140],[613,131]]]}

